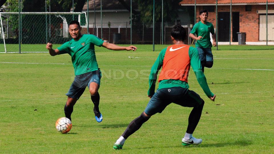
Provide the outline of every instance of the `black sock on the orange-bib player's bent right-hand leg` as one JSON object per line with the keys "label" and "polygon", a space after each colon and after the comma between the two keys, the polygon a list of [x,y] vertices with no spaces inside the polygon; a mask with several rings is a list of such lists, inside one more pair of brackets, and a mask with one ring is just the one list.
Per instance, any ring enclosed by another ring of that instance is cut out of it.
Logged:
{"label": "black sock on the orange-bib player's bent right-hand leg", "polygon": [[205,104],[205,102],[203,101],[201,105],[199,105],[198,107],[194,107],[192,109],[192,111],[188,117],[188,129],[186,130],[187,133],[193,134],[193,132],[201,118],[204,104]]}

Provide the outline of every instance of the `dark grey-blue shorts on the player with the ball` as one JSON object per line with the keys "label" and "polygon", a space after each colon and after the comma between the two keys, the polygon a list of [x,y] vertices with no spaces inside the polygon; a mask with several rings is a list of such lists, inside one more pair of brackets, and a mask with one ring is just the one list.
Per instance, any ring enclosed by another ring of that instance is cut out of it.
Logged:
{"label": "dark grey-blue shorts on the player with the ball", "polygon": [[101,77],[102,74],[100,69],[81,75],[76,75],[66,95],[74,99],[79,99],[84,93],[86,87],[89,88],[90,83],[95,82],[100,87]]}

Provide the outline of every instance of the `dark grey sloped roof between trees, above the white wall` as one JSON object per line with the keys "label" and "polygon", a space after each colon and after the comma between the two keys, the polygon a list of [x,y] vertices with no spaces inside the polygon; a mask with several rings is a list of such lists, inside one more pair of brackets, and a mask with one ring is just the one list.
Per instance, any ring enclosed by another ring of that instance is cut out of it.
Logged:
{"label": "dark grey sloped roof between trees, above the white wall", "polygon": [[[126,4],[130,7],[130,0],[125,0]],[[95,10],[100,10],[101,0],[95,0]],[[94,10],[94,0],[89,0],[88,5],[85,3],[83,10]],[[132,0],[132,8],[136,10],[138,8],[137,1]],[[102,0],[102,10],[126,10],[118,0]]]}

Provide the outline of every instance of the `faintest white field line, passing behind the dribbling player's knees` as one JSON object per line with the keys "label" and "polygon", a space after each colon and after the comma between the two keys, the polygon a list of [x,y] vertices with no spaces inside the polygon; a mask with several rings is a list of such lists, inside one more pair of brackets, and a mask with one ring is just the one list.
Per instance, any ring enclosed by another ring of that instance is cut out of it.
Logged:
{"label": "faintest white field line, passing behind the dribbling player's knees", "polygon": [[[214,93],[216,95],[231,95],[231,94],[256,94],[256,93],[274,93],[273,91],[256,91],[256,92],[235,92],[235,93]],[[101,96],[100,96],[101,97]],[[113,98],[113,96],[102,96],[102,98]],[[146,95],[137,95],[137,96],[117,96],[116,98],[121,98],[121,97],[145,97],[147,98]],[[90,97],[84,97],[80,99],[90,99]],[[11,101],[27,101],[27,100],[63,100],[64,102],[67,101],[67,98],[64,96],[64,98],[47,98],[47,99],[8,99],[8,100],[0,100],[0,102],[11,102]]]}

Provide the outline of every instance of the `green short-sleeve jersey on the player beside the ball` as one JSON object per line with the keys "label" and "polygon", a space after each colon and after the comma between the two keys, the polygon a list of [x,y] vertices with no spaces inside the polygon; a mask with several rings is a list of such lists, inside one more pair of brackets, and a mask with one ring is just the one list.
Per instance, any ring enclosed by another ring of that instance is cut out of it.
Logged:
{"label": "green short-sleeve jersey on the player beside the ball", "polygon": [[80,75],[98,70],[94,45],[102,46],[103,42],[95,35],[84,34],[78,41],[71,39],[57,49],[60,54],[69,54],[71,56],[74,74]]}

